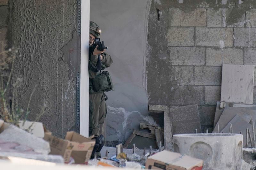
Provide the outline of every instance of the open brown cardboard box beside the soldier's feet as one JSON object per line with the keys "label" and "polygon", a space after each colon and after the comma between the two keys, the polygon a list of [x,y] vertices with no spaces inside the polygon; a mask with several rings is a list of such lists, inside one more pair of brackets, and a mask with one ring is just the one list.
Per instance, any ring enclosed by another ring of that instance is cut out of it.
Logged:
{"label": "open brown cardboard box beside the soldier's feet", "polygon": [[49,154],[62,155],[65,163],[69,163],[69,159],[72,157],[75,164],[87,163],[95,145],[94,140],[76,132],[67,132],[65,140],[45,133],[44,140],[50,144],[51,152]]}

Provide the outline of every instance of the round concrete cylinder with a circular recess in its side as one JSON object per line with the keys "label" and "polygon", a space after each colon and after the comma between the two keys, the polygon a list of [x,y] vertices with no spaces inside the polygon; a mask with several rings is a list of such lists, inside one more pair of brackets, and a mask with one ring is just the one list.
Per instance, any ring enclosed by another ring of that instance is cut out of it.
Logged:
{"label": "round concrete cylinder with a circular recess in its side", "polygon": [[174,150],[204,160],[204,169],[242,169],[240,134],[179,134],[173,140]]}

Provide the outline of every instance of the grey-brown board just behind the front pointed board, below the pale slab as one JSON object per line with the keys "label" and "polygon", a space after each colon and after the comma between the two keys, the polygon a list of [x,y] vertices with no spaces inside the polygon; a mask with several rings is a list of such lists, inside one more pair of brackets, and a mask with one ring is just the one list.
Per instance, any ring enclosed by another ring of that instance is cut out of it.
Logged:
{"label": "grey-brown board just behind the front pointed board, below the pale slab", "polygon": [[[246,109],[239,109],[239,108],[233,108],[233,107],[226,106],[220,116],[219,121],[217,122],[217,123],[219,123],[219,132],[225,128],[225,126],[228,124],[228,122],[230,122],[236,116],[236,114],[241,116],[245,122],[249,123],[250,120],[252,119],[252,116],[247,114],[246,112],[250,113],[250,111],[246,110]],[[217,131],[218,131],[217,126],[215,126],[215,128],[213,129],[212,132],[217,132]]]}

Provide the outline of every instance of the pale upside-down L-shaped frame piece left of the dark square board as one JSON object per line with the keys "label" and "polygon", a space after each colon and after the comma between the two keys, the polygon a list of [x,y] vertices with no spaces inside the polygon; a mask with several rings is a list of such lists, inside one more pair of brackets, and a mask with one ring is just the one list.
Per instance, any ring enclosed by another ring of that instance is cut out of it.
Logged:
{"label": "pale upside-down L-shaped frame piece left of the dark square board", "polygon": [[154,113],[164,113],[164,145],[166,149],[173,151],[173,142],[172,142],[172,122],[168,106],[163,105],[149,105],[149,112]]}

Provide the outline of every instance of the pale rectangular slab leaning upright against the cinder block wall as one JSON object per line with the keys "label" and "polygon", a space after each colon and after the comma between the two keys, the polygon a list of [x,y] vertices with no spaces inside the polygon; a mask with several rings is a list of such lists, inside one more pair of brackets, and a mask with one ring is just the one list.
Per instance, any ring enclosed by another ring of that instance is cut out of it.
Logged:
{"label": "pale rectangular slab leaning upright against the cinder block wall", "polygon": [[252,104],[254,65],[223,64],[221,101]]}

